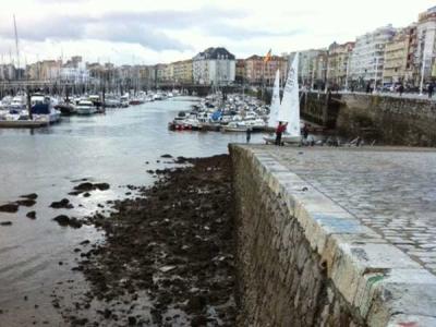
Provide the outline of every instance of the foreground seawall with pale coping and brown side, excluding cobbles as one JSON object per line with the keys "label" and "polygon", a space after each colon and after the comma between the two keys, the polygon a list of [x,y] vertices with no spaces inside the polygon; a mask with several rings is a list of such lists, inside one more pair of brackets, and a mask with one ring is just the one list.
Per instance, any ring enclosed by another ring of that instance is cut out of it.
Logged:
{"label": "foreground seawall with pale coping and brown side, excluding cobbles", "polygon": [[436,326],[432,274],[266,152],[230,154],[239,326]]}

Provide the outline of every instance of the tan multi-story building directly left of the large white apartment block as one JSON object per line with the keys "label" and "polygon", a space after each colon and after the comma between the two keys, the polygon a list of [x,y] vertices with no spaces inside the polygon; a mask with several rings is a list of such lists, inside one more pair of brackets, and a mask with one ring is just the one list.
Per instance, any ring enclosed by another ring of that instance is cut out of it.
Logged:
{"label": "tan multi-story building directly left of the large white apartment block", "polygon": [[350,60],[353,48],[354,43],[342,45],[332,43],[328,47],[326,80],[329,87],[343,88],[348,86],[347,78],[350,73]]}

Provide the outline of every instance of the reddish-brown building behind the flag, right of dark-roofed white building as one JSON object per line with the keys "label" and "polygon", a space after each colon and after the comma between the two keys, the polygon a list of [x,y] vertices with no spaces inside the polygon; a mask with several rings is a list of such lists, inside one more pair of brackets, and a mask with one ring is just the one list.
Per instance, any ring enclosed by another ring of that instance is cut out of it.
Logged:
{"label": "reddish-brown building behind the flag, right of dark-roofed white building", "polygon": [[252,85],[271,86],[277,70],[280,70],[280,81],[284,81],[288,73],[288,58],[271,56],[265,62],[265,57],[254,55],[245,59],[245,81]]}

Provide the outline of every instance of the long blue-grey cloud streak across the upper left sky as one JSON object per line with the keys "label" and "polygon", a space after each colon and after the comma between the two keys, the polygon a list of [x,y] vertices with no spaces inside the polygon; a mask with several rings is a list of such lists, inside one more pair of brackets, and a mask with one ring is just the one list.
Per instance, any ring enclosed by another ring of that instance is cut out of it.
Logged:
{"label": "long blue-grey cloud streak across the upper left sky", "polygon": [[[68,0],[62,0],[68,1]],[[19,22],[19,37],[29,41],[97,39],[140,44],[152,50],[191,50],[191,45],[171,37],[171,31],[209,29],[214,22],[241,19],[244,13],[204,7],[193,11],[120,11],[100,15],[58,14],[34,16]],[[0,37],[13,37],[11,22],[0,22]]]}

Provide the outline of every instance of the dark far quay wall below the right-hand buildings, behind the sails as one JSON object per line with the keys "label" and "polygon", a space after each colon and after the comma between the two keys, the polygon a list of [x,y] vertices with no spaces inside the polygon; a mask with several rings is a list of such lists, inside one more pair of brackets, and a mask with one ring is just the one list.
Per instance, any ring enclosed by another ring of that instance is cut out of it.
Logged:
{"label": "dark far quay wall below the right-hand buildings, behind the sails", "polygon": [[378,144],[436,146],[436,102],[366,94],[308,94],[302,117]]}

